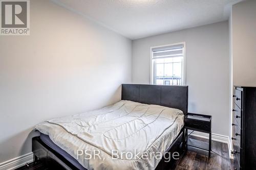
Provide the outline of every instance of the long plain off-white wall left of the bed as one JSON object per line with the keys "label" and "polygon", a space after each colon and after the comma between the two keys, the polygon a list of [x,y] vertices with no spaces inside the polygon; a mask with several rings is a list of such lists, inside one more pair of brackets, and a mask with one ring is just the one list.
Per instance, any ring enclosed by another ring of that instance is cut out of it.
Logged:
{"label": "long plain off-white wall left of the bed", "polygon": [[30,36],[0,36],[0,162],[31,151],[46,119],[120,100],[132,42],[50,1],[30,1]]}

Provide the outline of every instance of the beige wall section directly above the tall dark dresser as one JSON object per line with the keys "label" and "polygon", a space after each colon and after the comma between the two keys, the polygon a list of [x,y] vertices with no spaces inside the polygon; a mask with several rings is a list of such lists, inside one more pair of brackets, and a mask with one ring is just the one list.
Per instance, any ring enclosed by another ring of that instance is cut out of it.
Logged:
{"label": "beige wall section directly above the tall dark dresser", "polygon": [[233,85],[256,86],[256,1],[232,7]]}

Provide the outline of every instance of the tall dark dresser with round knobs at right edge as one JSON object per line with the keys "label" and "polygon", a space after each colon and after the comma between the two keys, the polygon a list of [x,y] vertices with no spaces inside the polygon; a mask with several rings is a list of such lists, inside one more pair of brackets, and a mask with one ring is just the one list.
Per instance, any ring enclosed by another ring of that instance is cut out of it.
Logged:
{"label": "tall dark dresser with round knobs at right edge", "polygon": [[235,86],[233,98],[234,169],[256,169],[256,87]]}

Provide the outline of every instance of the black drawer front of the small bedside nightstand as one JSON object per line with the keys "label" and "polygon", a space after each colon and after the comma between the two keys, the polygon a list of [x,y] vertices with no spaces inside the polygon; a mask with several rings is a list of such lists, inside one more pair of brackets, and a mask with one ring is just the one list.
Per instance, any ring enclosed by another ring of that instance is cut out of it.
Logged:
{"label": "black drawer front of the small bedside nightstand", "polygon": [[184,119],[185,128],[198,131],[211,132],[210,122],[204,122],[193,119]]}

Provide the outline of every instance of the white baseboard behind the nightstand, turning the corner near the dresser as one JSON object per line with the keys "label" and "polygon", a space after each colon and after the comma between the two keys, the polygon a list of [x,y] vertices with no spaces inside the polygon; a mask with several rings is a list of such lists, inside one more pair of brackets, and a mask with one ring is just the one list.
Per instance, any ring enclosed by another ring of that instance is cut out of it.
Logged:
{"label": "white baseboard behind the nightstand, turning the corner near the dresser", "polygon": [[[191,130],[188,130],[188,134],[191,133]],[[190,134],[191,136],[196,136],[196,137],[201,137],[204,139],[209,139],[209,134],[208,133],[203,133],[203,132],[198,132],[194,131],[193,133]],[[228,136],[224,135],[219,135],[216,133],[211,134],[211,140],[222,142],[222,143],[227,143],[228,146],[228,153],[229,153],[229,158],[233,159],[233,156],[231,155],[231,145],[230,145],[230,139]]]}

